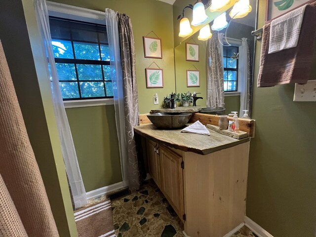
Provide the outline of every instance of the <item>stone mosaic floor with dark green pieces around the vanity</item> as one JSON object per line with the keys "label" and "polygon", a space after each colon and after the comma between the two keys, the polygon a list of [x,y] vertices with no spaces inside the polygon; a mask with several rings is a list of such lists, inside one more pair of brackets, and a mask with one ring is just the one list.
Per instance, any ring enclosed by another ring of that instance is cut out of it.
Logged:
{"label": "stone mosaic floor with dark green pieces around the vanity", "polygon": [[[112,201],[112,208],[117,237],[183,237],[183,223],[152,180]],[[243,227],[232,237],[257,236]]]}

